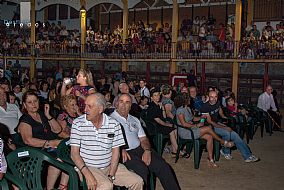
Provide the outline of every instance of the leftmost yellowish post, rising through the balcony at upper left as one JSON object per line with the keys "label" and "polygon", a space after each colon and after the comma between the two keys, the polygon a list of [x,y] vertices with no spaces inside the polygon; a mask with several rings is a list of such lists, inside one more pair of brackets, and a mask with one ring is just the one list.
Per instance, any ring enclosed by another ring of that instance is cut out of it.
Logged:
{"label": "leftmost yellowish post, rising through the balcony at upper left", "polygon": [[36,64],[35,64],[35,0],[31,0],[31,62],[30,62],[30,80],[35,77]]}

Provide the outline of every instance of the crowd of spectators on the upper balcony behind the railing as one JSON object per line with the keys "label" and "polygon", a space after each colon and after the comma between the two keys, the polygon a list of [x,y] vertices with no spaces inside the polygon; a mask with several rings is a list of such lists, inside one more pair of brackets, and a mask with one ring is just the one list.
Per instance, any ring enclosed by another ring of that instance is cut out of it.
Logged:
{"label": "crowd of spectators on the upper balcony behind the railing", "polygon": [[[184,19],[179,29],[177,52],[180,57],[214,56],[232,58],[235,48],[239,48],[238,58],[281,58],[284,51],[284,21],[275,27],[270,22],[262,28],[252,23],[242,32],[240,42],[234,40],[234,23],[217,23],[213,16],[196,16],[193,20]],[[85,53],[108,57],[117,55],[132,58],[138,54],[167,54],[172,47],[172,27],[162,24],[144,24],[142,20],[128,26],[128,38],[122,41],[123,29],[118,25],[113,30],[105,28],[95,31],[87,28]],[[0,51],[4,55],[29,56],[42,54],[78,54],[81,51],[80,32],[68,30],[60,21],[57,24],[39,22],[36,28],[36,43],[31,52],[30,30],[19,25],[9,28],[0,25]]]}

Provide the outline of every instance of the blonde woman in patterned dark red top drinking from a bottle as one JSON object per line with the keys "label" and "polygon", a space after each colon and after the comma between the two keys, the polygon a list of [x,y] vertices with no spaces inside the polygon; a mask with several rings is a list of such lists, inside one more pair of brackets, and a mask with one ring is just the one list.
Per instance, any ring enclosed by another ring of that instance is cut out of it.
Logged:
{"label": "blonde woman in patterned dark red top drinking from a bottle", "polygon": [[80,69],[76,76],[76,83],[76,85],[73,85],[68,89],[68,86],[72,84],[72,80],[71,78],[64,78],[61,88],[61,97],[68,94],[75,95],[77,97],[80,111],[83,112],[85,109],[85,99],[87,95],[96,92],[91,71]]}

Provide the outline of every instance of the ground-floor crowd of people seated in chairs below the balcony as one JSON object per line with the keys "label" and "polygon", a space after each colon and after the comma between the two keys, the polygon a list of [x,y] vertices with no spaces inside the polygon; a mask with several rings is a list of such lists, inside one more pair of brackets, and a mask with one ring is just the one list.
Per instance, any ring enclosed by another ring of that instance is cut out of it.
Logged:
{"label": "ground-floor crowd of people seated in chairs below the balcony", "polygon": [[[60,141],[70,138],[71,158],[89,189],[112,189],[113,185],[149,189],[151,172],[164,189],[180,189],[170,165],[153,150],[155,146],[148,139],[153,131],[141,121],[142,112],[147,113],[155,133],[170,136],[170,146],[165,150],[173,157],[178,154],[177,138],[192,138],[186,129],[190,128],[194,138],[207,141],[209,167],[218,167],[213,157],[213,140],[220,142],[220,153],[227,160],[232,159],[231,148],[236,146],[245,162],[259,161],[237,131],[224,122],[237,113],[249,116],[238,107],[229,89],[222,93],[209,87],[201,94],[190,77],[191,86],[184,84],[179,88],[167,84],[152,86],[145,79],[131,80],[127,73],[97,81],[93,78],[89,70],[74,69],[66,75],[63,68],[46,81],[30,82],[27,77],[16,83],[1,78],[0,177],[7,170],[4,153],[13,151],[15,145],[40,148],[56,157]],[[272,87],[267,86],[258,107],[281,126],[276,105]],[[224,114],[225,108],[230,110],[229,115]],[[184,128],[176,128],[171,122],[175,119]],[[184,149],[178,156],[190,155]],[[49,166],[47,190],[54,188],[60,173]],[[66,189],[67,184],[68,176],[62,173],[59,189]]]}

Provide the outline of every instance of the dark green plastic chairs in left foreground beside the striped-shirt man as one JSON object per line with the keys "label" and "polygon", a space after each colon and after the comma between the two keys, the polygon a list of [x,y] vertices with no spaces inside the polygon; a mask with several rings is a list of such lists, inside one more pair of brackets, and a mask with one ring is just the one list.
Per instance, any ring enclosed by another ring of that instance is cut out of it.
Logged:
{"label": "dark green plastic chairs in left foreground beside the striped-shirt man", "polygon": [[[16,185],[20,190],[40,190],[43,189],[43,179],[47,164],[53,165],[69,175],[68,189],[87,190],[87,183],[83,176],[83,181],[79,180],[75,164],[70,157],[70,140],[63,139],[57,147],[57,157],[62,162],[56,160],[50,154],[33,147],[21,147],[6,157],[8,171],[4,179],[0,180],[0,190],[8,190],[8,182]],[[122,187],[115,186],[114,190],[121,190]],[[154,189],[152,189],[154,190]]]}

